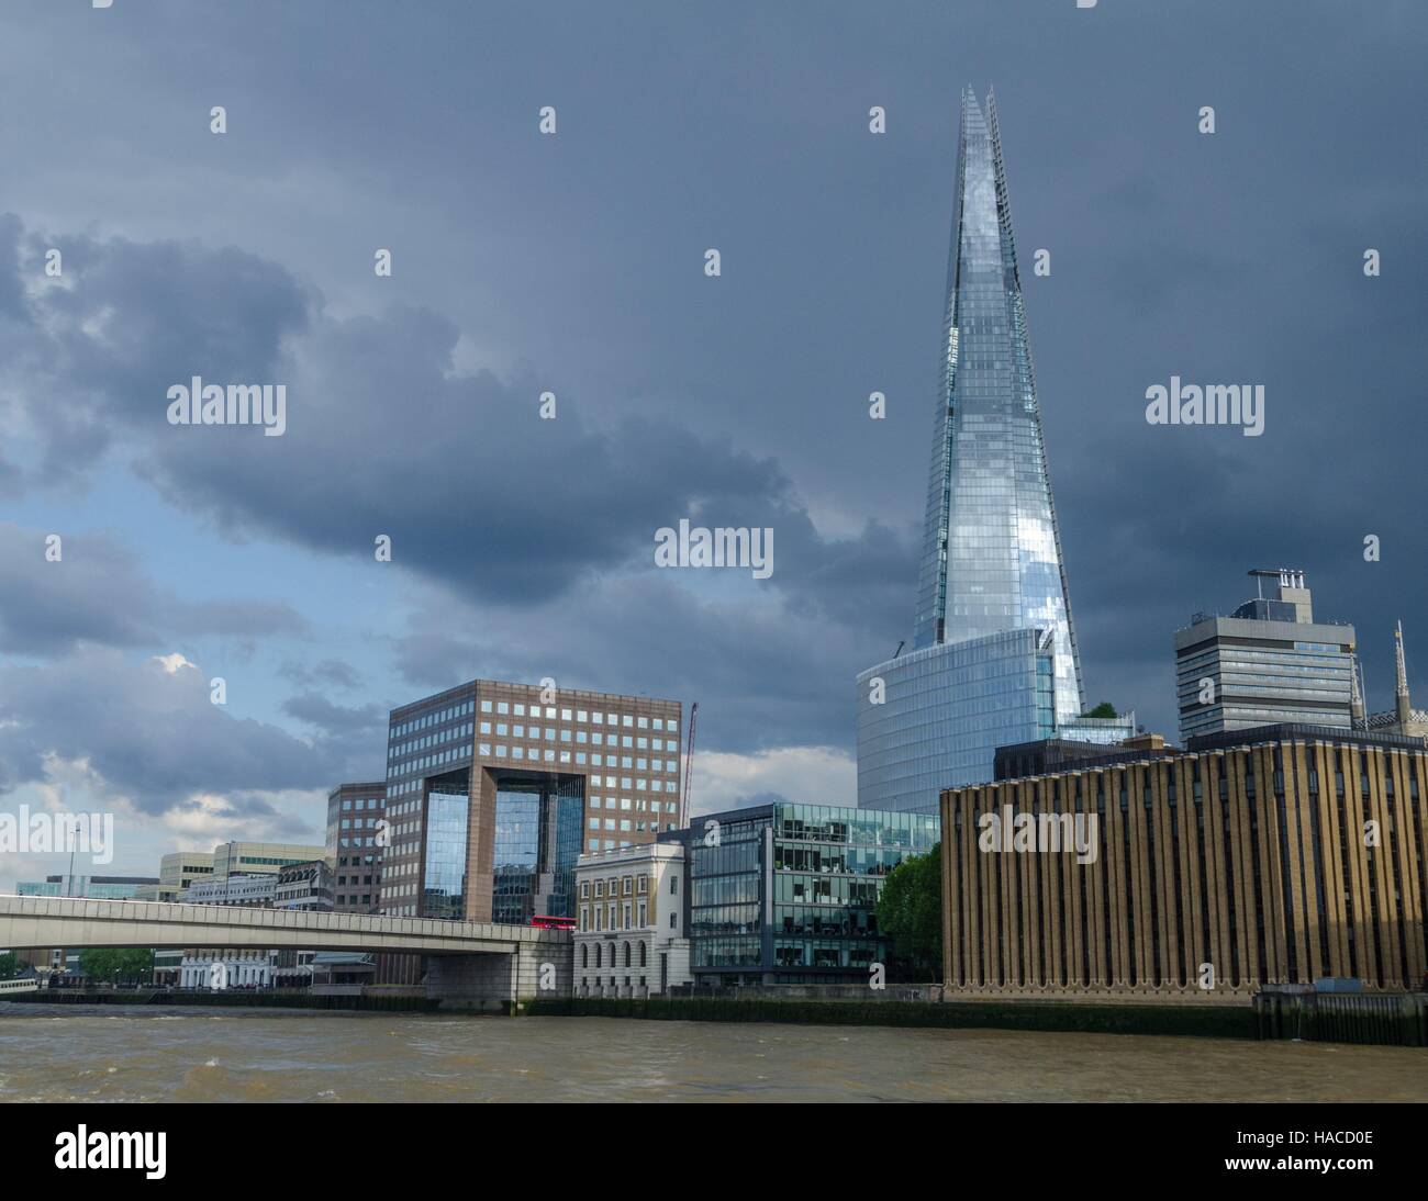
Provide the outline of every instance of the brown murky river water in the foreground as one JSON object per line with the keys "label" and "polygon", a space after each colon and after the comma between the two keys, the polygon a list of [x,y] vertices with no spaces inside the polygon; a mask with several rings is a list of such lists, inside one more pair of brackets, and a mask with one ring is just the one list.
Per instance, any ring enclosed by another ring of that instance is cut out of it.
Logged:
{"label": "brown murky river water in the foreground", "polygon": [[0,1004],[3,1101],[1428,1101],[1428,1051]]}

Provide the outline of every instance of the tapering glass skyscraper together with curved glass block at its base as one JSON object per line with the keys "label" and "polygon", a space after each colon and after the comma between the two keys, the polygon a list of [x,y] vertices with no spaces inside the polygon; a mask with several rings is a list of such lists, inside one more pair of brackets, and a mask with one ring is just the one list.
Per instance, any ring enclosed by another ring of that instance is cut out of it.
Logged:
{"label": "tapering glass skyscraper together with curved glass block at its base", "polygon": [[[858,676],[858,806],[935,810],[998,746],[1080,722],[1081,665],[1051,499],[997,106],[962,93],[957,197],[912,650]],[[1080,727],[1078,727],[1080,726]]]}

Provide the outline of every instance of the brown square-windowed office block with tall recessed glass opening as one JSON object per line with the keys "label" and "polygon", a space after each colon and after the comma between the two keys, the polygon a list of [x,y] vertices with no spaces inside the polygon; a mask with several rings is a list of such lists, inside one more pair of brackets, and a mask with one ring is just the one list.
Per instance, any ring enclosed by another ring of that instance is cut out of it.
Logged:
{"label": "brown square-windowed office block with tall recessed glass opening", "polygon": [[381,911],[574,916],[583,852],[680,820],[677,700],[471,680],[391,712]]}

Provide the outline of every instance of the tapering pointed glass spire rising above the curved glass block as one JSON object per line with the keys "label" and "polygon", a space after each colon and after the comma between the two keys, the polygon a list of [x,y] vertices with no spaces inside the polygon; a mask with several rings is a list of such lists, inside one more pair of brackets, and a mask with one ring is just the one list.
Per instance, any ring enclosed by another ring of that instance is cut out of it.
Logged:
{"label": "tapering pointed glass spire rising above the curved glass block", "polygon": [[1082,712],[997,110],[962,96],[917,649],[1008,629],[1054,633],[1055,707]]}

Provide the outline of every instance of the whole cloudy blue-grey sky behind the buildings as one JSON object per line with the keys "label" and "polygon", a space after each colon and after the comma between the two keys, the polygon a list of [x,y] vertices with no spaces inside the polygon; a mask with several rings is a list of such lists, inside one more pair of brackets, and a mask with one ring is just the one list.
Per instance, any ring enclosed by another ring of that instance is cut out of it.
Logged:
{"label": "whole cloudy blue-grey sky behind the buildings", "polygon": [[[1090,699],[1174,735],[1172,630],[1284,565],[1388,706],[1395,619],[1428,665],[1425,43],[1409,0],[9,0],[0,807],[117,812],[110,872],[320,842],[387,709],[476,675],[698,700],[697,809],[854,803],[964,84]],[[191,375],[286,382],[287,434],[170,426]],[[1264,435],[1150,426],[1171,375],[1264,384]],[[655,569],[681,516],[773,526],[774,576]]]}

